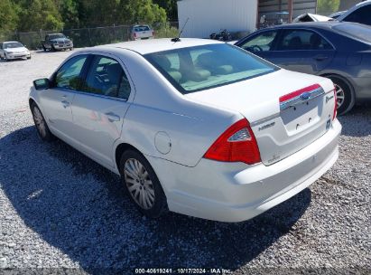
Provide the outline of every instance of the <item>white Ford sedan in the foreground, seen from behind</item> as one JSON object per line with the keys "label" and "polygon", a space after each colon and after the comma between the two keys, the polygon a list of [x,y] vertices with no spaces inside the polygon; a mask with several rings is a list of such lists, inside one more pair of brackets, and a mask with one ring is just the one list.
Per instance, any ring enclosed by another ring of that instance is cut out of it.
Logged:
{"label": "white Ford sedan in the foreground, seen from behind", "polygon": [[40,137],[121,175],[150,217],[244,221],[301,192],[339,155],[333,83],[227,43],[89,48],[33,83]]}

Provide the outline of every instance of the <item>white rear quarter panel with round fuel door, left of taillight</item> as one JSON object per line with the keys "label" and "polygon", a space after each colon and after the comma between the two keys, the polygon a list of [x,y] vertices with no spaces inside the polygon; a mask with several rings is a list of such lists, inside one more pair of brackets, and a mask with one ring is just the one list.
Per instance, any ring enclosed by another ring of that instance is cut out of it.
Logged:
{"label": "white rear quarter panel with round fuel door, left of taillight", "polygon": [[[120,58],[134,82],[135,96],[116,146],[127,143],[144,155],[196,166],[218,136],[242,119],[237,112],[187,100],[140,54],[125,51]],[[168,137],[160,142],[171,144],[168,153],[155,145],[160,132]]]}

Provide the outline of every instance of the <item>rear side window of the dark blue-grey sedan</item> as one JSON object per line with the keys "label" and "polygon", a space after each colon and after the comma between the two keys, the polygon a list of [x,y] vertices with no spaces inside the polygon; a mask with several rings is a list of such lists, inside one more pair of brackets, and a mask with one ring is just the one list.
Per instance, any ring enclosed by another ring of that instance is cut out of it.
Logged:
{"label": "rear side window of the dark blue-grey sedan", "polygon": [[320,34],[307,30],[287,30],[277,51],[331,50],[332,46]]}

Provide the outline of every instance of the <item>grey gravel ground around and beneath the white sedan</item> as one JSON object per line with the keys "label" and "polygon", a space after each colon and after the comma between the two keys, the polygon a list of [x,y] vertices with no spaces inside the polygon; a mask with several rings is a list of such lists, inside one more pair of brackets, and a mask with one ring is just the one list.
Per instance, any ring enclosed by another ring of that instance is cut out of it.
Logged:
{"label": "grey gravel ground around and beneath the white sedan", "polygon": [[33,52],[31,61],[0,62],[0,273],[371,272],[369,107],[339,118],[343,134],[336,165],[267,213],[245,223],[176,213],[153,221],[135,210],[116,175],[61,141],[37,137],[29,86],[69,54]]}

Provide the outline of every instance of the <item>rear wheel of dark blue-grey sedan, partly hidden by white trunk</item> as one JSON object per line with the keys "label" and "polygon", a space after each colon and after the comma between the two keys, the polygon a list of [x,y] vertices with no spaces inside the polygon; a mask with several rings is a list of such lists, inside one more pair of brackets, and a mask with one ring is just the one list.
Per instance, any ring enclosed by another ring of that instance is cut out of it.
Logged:
{"label": "rear wheel of dark blue-grey sedan, partly hidden by white trunk", "polygon": [[[329,75],[327,76],[332,82],[334,82],[335,87],[337,89],[337,97],[338,97],[338,115],[346,114],[350,109],[353,108],[355,104],[355,97],[353,94],[353,87],[348,83],[348,81],[344,80],[343,78],[337,75]],[[340,91],[340,90],[342,91]],[[341,96],[340,96],[341,95]]]}

